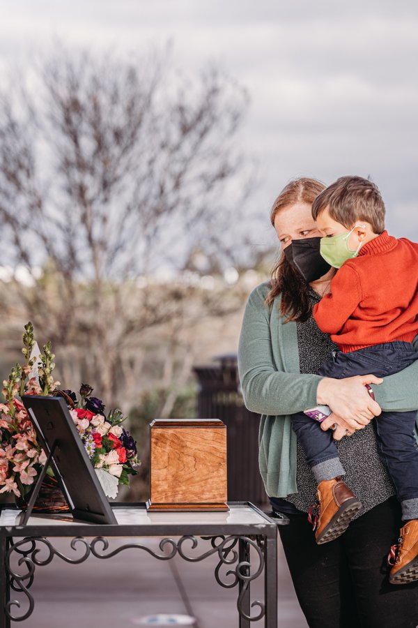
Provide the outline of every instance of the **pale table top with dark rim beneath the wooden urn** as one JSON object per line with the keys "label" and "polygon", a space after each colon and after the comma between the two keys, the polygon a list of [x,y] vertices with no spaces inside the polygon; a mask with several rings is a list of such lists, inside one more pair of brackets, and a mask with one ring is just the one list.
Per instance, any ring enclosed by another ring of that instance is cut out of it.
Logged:
{"label": "pale table top with dark rim beneath the wooden urn", "polygon": [[21,511],[4,504],[0,512],[0,535],[10,536],[160,536],[161,534],[267,534],[276,533],[277,522],[250,502],[229,502],[229,511],[155,512],[146,505],[111,504],[117,525],[87,523],[70,514],[33,514],[20,525]]}

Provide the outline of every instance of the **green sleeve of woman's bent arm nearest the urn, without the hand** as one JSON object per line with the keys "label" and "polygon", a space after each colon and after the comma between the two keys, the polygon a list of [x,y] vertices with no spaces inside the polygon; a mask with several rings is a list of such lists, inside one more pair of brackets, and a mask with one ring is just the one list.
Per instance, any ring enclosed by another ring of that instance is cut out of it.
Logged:
{"label": "green sleeve of woman's bent arm nearest the urn, without the hand", "polygon": [[316,389],[322,377],[277,371],[272,355],[270,315],[258,289],[251,292],[245,308],[238,370],[242,396],[251,412],[293,414],[317,403]]}

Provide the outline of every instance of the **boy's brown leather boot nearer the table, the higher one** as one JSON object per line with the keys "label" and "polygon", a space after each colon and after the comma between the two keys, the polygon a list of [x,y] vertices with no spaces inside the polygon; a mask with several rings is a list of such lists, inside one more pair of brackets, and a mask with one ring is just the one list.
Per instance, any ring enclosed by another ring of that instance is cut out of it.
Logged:
{"label": "boy's brown leather boot nearer the table, the higher one", "polygon": [[362,507],[362,502],[341,479],[323,480],[316,491],[317,502],[309,509],[318,545],[334,541],[346,532],[350,521]]}

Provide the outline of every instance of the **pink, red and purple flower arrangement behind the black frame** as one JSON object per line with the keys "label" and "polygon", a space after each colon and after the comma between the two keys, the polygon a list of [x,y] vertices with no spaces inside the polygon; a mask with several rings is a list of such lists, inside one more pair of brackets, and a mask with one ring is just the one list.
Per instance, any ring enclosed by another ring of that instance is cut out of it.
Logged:
{"label": "pink, red and purple flower arrangement behind the black frame", "polygon": [[[22,353],[26,364],[13,366],[8,380],[3,381],[5,403],[0,403],[0,493],[14,493],[20,503],[29,501],[30,493],[47,456],[38,443],[36,432],[22,404],[22,395],[61,395],[84,443],[88,457],[98,474],[104,492],[114,498],[119,484],[129,484],[140,462],[136,442],[123,428],[120,410],[104,414],[100,399],[91,396],[93,389],[83,384],[79,399],[72,391],[60,391],[54,381],[54,354],[51,343],[39,351],[31,322],[24,327]],[[45,478],[47,492],[56,486],[51,469]],[[42,489],[41,489],[42,492]],[[61,501],[63,495],[61,493]],[[62,510],[63,505],[59,504]]]}

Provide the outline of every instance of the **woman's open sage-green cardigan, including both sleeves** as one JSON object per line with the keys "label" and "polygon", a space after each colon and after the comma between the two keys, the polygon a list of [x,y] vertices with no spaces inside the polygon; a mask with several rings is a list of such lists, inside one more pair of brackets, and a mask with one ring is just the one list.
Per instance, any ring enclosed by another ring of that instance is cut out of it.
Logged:
{"label": "woman's open sage-green cardigan, including both sleeves", "polygon": [[[269,284],[251,292],[238,348],[242,395],[248,410],[261,414],[258,438],[261,476],[273,497],[296,493],[296,435],[290,414],[316,405],[319,375],[301,374],[296,323],[284,324],[278,300],[265,306]],[[414,341],[418,350],[418,336]],[[373,386],[382,410],[405,412],[418,408],[418,360]]]}

